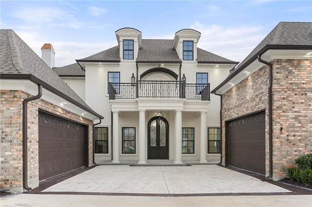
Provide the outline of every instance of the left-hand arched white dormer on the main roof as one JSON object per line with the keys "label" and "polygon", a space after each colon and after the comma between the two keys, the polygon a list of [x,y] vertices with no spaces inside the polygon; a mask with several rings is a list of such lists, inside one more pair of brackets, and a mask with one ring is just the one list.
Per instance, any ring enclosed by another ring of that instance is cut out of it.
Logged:
{"label": "left-hand arched white dormer on the main roof", "polygon": [[136,60],[138,49],[142,47],[141,32],[134,28],[121,28],[115,33],[119,45],[120,60]]}

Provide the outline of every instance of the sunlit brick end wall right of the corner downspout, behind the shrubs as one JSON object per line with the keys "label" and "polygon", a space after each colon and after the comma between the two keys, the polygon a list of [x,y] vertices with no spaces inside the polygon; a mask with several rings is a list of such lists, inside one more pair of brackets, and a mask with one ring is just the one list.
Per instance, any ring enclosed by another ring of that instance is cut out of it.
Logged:
{"label": "sunlit brick end wall right of the corner downspout, behind the shrubs", "polygon": [[280,179],[294,159],[312,152],[312,60],[272,63],[273,175]]}

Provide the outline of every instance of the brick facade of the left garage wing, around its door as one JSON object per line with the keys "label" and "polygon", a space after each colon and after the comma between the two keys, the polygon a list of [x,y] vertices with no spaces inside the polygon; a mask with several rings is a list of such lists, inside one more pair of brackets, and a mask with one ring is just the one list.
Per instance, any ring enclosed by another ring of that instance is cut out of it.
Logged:
{"label": "brick facade of the left garage wing, around its door", "polygon": [[[22,102],[30,96],[30,94],[23,91],[0,91],[1,189],[9,189],[16,192],[23,191]],[[39,109],[88,125],[88,163],[89,166],[93,165],[93,121],[41,99],[28,102],[28,186],[31,188],[39,186]]]}

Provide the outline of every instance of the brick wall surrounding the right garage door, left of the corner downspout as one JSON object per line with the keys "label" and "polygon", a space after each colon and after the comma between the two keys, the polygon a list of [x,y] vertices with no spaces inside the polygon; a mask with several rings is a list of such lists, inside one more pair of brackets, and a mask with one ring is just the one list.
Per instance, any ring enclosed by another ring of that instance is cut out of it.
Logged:
{"label": "brick wall surrounding the right garage door, left of the corner downspout", "polygon": [[[237,117],[265,110],[266,143],[269,143],[268,122],[269,73],[263,67],[222,96],[222,163],[225,163],[225,122]],[[269,147],[266,144],[266,174],[269,174]]]}

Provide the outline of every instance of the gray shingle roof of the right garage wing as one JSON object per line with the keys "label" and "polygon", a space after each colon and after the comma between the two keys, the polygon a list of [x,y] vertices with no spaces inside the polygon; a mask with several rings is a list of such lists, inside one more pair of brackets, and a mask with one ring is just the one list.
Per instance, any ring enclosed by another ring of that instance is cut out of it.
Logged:
{"label": "gray shingle roof of the right garage wing", "polygon": [[312,45],[312,22],[280,22],[235,68],[239,69],[266,45]]}

